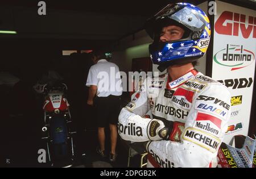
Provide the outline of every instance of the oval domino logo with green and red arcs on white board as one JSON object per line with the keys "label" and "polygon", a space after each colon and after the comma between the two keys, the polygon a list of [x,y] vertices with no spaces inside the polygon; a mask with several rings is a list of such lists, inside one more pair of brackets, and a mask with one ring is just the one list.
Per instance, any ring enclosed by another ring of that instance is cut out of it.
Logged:
{"label": "oval domino logo with green and red arcs on white board", "polygon": [[227,44],[226,48],[214,54],[213,60],[219,65],[230,67],[231,70],[237,70],[253,64],[255,55],[243,45]]}

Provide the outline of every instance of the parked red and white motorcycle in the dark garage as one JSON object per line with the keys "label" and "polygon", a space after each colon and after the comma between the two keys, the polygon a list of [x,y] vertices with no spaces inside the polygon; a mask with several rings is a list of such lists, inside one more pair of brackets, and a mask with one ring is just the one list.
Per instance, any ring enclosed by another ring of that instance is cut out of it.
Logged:
{"label": "parked red and white motorcycle in the dark garage", "polygon": [[55,83],[40,86],[44,94],[44,122],[42,139],[46,141],[51,166],[72,166],[75,159],[73,130],[69,103],[65,93],[67,85]]}

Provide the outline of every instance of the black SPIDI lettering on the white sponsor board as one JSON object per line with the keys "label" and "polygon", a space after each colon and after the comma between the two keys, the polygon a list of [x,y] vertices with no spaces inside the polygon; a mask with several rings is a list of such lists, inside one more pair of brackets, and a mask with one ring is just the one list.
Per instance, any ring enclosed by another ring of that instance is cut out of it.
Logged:
{"label": "black SPIDI lettering on the white sponsor board", "polygon": [[221,84],[232,89],[250,88],[253,84],[253,78],[239,78],[239,79],[228,79],[228,80],[218,80]]}

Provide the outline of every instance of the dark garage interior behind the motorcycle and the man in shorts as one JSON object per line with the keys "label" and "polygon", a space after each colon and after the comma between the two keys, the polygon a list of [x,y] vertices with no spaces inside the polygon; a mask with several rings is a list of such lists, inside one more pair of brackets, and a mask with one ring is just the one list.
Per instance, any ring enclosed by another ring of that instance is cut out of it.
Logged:
{"label": "dark garage interior behind the motorcycle and the man in shorts", "polygon": [[[0,166],[48,166],[38,163],[37,152],[44,145],[40,140],[43,111],[32,86],[47,69],[54,69],[68,86],[68,101],[77,129],[77,157],[73,166],[127,167],[128,145],[121,140],[115,163],[97,156],[94,109],[86,105],[85,83],[92,65],[87,52],[108,49],[121,71],[131,71],[132,59],[148,57],[144,49],[151,39],[143,30],[146,19],[168,3],[180,1],[44,1],[46,15],[38,14],[38,2],[0,3],[0,31],[5,32],[0,34],[0,71],[19,79],[13,85],[0,84]],[[183,2],[198,5],[205,1]],[[130,93],[124,92],[122,105],[129,100]],[[106,139],[108,133],[106,127]],[[106,148],[108,143],[106,140]],[[130,166],[138,167],[139,160],[140,156],[135,156]]]}

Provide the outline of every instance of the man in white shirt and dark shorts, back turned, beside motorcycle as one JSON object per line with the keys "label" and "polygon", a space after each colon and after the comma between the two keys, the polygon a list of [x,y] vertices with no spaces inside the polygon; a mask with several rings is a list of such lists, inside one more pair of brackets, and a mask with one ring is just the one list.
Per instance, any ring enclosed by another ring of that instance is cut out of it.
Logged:
{"label": "man in white shirt and dark shorts, back turned, beside motorcycle", "polygon": [[122,95],[122,83],[119,68],[114,63],[106,60],[104,51],[91,53],[94,65],[90,67],[86,86],[89,88],[87,104],[93,105],[96,97],[96,120],[98,126],[98,141],[100,147],[97,153],[105,157],[105,126],[109,124],[111,151],[109,159],[115,161],[117,152],[117,122],[120,112],[120,95]]}

